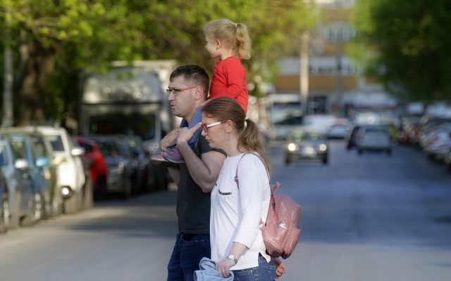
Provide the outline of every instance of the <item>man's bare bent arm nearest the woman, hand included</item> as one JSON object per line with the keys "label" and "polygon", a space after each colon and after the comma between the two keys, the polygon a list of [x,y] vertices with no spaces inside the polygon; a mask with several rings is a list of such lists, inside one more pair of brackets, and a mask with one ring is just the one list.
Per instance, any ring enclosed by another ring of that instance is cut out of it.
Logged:
{"label": "man's bare bent arm nearest the woman, hand included", "polygon": [[203,153],[201,158],[197,157],[188,145],[188,140],[192,133],[200,128],[200,124],[191,129],[180,129],[177,139],[177,148],[183,155],[188,171],[195,183],[202,188],[203,192],[210,192],[219,176],[219,171],[223,166],[226,156],[216,150]]}

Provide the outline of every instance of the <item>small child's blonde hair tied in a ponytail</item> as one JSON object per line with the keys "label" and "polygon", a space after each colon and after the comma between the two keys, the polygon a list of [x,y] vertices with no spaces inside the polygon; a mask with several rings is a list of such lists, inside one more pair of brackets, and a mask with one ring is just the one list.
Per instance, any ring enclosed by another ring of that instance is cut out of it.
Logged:
{"label": "small child's blonde hair tied in a ponytail", "polygon": [[245,60],[251,58],[252,41],[246,25],[221,18],[207,22],[204,34],[221,41],[227,48],[233,49],[233,53],[240,58]]}

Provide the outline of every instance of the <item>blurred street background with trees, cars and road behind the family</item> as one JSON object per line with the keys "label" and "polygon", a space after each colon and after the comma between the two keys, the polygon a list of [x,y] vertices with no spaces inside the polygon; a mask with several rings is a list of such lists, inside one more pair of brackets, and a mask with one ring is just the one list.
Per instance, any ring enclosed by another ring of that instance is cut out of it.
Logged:
{"label": "blurred street background with trees, cars and road behind the family", "polygon": [[171,71],[213,70],[203,27],[217,18],[249,27],[247,114],[303,206],[283,280],[448,280],[450,11],[0,0],[0,280],[166,278],[177,188],[149,158],[180,124]]}

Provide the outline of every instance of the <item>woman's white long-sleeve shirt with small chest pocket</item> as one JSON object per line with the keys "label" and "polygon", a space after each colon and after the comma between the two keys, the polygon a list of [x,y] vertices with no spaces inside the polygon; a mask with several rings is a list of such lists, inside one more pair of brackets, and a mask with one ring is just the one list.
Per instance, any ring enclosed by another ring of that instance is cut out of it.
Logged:
{"label": "woman's white long-sleeve shirt with small chest pocket", "polygon": [[[259,254],[267,261],[271,259],[259,228],[260,222],[266,221],[271,197],[266,167],[256,155],[245,155],[240,161],[241,157],[242,154],[226,158],[211,192],[211,259],[216,262],[225,259],[233,242],[247,247],[231,270],[258,266]],[[235,171],[239,161],[238,189]]]}

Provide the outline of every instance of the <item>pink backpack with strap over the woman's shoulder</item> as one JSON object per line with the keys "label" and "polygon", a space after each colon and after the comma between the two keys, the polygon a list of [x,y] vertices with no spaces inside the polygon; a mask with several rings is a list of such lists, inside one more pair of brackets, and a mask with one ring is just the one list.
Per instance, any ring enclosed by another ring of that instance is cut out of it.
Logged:
{"label": "pink backpack with strap over the woman's shoulder", "polygon": [[[247,154],[253,154],[259,157],[261,162],[264,162],[256,152],[246,152],[242,157]],[[266,172],[269,178],[268,169],[266,169]],[[238,165],[235,172],[235,182],[239,189]],[[297,228],[301,207],[288,197],[288,195],[276,195],[275,193],[279,187],[279,182],[271,186],[268,216],[266,216],[266,223],[260,223],[260,229],[266,246],[266,252],[273,258],[282,256],[283,259],[287,259],[294,251],[299,240],[299,235],[301,235],[301,230]]]}

